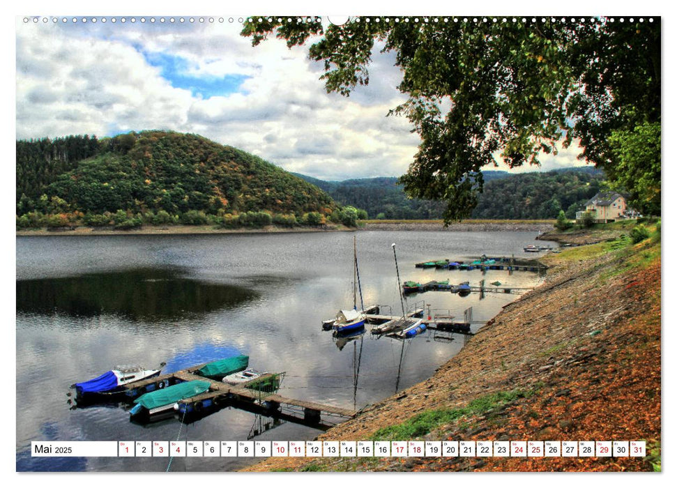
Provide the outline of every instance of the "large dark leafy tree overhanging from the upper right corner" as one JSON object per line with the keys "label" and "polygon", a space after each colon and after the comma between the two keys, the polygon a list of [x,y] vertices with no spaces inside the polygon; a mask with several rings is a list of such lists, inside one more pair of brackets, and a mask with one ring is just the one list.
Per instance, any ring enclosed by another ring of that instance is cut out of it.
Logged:
{"label": "large dark leafy tree overhanging from the upper right corner", "polygon": [[[557,142],[578,141],[581,158],[638,193],[609,138],[641,134],[647,123],[660,128],[660,18],[362,17],[324,29],[314,17],[254,17],[242,31],[253,45],[273,33],[289,47],[312,38],[310,59],[324,61],[327,91],[344,96],[368,84],[376,43],[395,52],[408,100],[390,114],[408,117],[421,139],[400,181],[411,197],[446,201],[446,222],[476,205],[482,167],[497,157],[510,167],[538,165]],[[658,160],[641,175],[641,193],[648,185],[660,202],[660,148],[652,154]]]}

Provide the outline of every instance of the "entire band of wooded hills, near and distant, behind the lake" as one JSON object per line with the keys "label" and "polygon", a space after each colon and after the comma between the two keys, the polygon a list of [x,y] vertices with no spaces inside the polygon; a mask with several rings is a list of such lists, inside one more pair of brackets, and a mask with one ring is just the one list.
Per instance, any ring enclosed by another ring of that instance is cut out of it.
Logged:
{"label": "entire band of wooded hills, near and distant, behind the lake", "polygon": [[[17,141],[17,227],[213,224],[294,227],[358,219],[439,219],[444,204],[409,199],[397,178],[321,181],[231,146],[178,132]],[[575,218],[602,184],[593,168],[484,171],[472,217]]]}

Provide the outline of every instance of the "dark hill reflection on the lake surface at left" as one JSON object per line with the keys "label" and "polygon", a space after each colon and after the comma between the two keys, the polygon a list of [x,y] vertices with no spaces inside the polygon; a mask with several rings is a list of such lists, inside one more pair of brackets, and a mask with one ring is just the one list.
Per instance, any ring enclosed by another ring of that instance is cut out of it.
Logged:
{"label": "dark hill reflection on the lake surface at left", "polygon": [[168,270],[17,281],[17,311],[72,317],[113,314],[135,321],[234,308],[258,296],[251,289],[190,280]]}

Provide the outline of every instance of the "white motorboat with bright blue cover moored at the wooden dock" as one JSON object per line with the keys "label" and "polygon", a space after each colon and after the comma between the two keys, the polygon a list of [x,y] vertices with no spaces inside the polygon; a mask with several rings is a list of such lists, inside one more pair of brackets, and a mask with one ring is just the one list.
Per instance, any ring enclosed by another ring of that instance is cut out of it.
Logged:
{"label": "white motorboat with bright blue cover moored at the wooden dock", "polygon": [[96,378],[75,383],[70,388],[75,390],[75,400],[80,403],[96,399],[113,399],[116,394],[125,390],[126,384],[158,376],[164,366],[165,363],[160,364],[160,369],[145,369],[141,366],[116,366]]}

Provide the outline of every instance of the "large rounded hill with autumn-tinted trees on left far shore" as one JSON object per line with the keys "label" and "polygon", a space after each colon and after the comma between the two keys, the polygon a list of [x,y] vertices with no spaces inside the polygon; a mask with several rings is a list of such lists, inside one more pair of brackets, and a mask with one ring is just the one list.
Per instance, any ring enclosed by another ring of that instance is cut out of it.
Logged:
{"label": "large rounded hill with autumn-tinted trees on left far shore", "polygon": [[316,186],[204,137],[146,131],[17,141],[17,216],[336,211]]}

